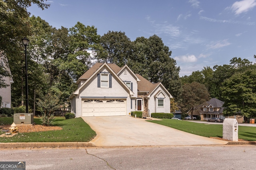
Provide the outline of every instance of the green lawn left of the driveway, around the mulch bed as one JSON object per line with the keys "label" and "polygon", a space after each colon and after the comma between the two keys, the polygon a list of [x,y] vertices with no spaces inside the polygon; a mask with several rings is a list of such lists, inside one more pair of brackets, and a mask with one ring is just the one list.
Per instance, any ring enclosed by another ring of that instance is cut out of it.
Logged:
{"label": "green lawn left of the driveway, around the mulch bed", "polygon": [[[8,142],[89,142],[96,133],[90,126],[79,118],[65,119],[65,117],[56,117],[54,126],[62,127],[62,130],[18,133],[13,137],[0,137],[0,143]],[[12,124],[12,117],[0,117],[0,122]],[[35,118],[36,124],[41,124],[40,119]]]}

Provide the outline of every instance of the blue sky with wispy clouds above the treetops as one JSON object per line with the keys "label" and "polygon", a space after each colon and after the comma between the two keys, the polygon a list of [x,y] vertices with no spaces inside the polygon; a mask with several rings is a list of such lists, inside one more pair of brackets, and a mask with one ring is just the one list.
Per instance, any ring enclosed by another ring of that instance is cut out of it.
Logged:
{"label": "blue sky with wispy clouds above the treetops", "polygon": [[255,63],[256,0],[48,0],[28,8],[56,28],[78,21],[99,35],[122,31],[131,41],[156,34],[172,51],[180,76],[230,64],[234,57]]}

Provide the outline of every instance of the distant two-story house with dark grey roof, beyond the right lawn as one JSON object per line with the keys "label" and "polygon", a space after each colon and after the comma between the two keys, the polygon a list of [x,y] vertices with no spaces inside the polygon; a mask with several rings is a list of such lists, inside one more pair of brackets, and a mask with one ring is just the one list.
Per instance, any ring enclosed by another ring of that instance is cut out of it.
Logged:
{"label": "distant two-story house with dark grey roof, beyond the right lawn", "polygon": [[[220,119],[225,119],[223,115],[223,104],[221,100],[216,98],[212,98],[206,101],[204,104],[201,104],[195,108],[193,115],[198,115],[201,117],[201,120],[208,120],[212,117],[219,117]],[[190,111],[187,112],[191,115]],[[244,121],[244,117],[241,116],[230,116],[226,118],[236,118],[238,123],[242,123]]]}

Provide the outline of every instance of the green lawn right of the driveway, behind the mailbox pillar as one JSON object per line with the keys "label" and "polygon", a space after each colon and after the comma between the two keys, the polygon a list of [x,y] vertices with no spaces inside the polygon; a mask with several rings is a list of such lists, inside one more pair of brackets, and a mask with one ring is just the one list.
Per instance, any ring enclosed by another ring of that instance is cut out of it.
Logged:
{"label": "green lawn right of the driveway, behind the mailbox pillar", "polygon": [[[173,119],[162,119],[162,121],[152,120],[151,122],[204,137],[222,137],[222,125],[219,124],[202,124]],[[247,141],[256,141],[256,127],[239,126],[238,124],[238,138]]]}

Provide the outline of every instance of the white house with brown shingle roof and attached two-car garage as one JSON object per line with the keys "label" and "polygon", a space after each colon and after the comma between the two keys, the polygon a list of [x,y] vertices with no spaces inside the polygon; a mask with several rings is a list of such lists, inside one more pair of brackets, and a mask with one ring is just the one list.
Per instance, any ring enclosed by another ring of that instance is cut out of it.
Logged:
{"label": "white house with brown shingle roof and attached two-car garage", "polygon": [[170,113],[172,95],[161,83],[151,83],[127,66],[96,63],[76,82],[70,96],[71,112],[76,117],[130,115],[142,111]]}

